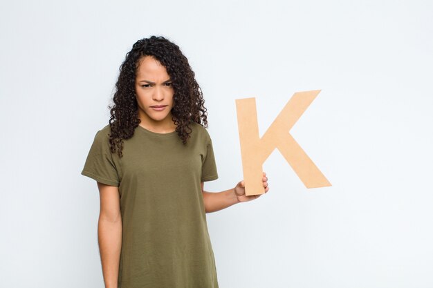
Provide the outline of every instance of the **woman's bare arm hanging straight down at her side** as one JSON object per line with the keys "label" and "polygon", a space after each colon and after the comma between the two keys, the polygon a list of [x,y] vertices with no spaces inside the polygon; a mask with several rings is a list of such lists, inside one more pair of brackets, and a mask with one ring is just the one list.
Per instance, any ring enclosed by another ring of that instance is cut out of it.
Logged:
{"label": "woman's bare arm hanging straight down at her side", "polygon": [[120,196],[116,186],[98,182],[100,192],[100,215],[98,242],[102,274],[106,288],[118,287],[120,249],[122,247],[122,217]]}

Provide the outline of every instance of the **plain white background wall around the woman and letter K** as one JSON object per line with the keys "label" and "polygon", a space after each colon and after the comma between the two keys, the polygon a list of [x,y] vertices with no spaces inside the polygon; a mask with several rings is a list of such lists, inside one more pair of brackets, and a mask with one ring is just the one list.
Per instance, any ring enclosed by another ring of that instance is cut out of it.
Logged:
{"label": "plain white background wall around the woman and letter K", "polygon": [[96,182],[132,44],[163,35],[196,73],[223,191],[242,179],[235,99],[260,133],[296,91],[291,130],[333,184],[279,151],[270,191],[210,213],[221,288],[433,287],[432,1],[1,1],[0,286],[103,287]]}

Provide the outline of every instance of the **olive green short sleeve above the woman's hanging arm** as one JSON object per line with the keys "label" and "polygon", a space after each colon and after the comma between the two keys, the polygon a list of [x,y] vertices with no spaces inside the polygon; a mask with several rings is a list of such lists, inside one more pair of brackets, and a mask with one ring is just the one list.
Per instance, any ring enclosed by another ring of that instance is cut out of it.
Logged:
{"label": "olive green short sleeve above the woman's hanging arm", "polygon": [[82,175],[110,186],[119,186],[119,173],[109,146],[109,135],[98,131],[87,155]]}

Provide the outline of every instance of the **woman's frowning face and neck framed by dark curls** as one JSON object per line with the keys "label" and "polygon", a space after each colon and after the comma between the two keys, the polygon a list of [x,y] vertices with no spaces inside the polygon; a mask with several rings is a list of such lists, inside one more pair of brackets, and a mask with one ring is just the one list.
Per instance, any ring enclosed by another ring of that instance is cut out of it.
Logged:
{"label": "woman's frowning face and neck framed by dark curls", "polygon": [[138,117],[145,128],[172,128],[174,89],[167,70],[151,56],[139,60],[136,72]]}

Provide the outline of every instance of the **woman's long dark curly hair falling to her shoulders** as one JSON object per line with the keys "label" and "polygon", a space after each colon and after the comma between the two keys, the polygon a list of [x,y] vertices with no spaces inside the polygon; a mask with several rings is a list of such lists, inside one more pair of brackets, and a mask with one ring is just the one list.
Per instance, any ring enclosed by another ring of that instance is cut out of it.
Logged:
{"label": "woman's long dark curly hair falling to her shoulders", "polygon": [[181,49],[165,37],[151,36],[138,40],[127,52],[125,61],[120,66],[120,74],[113,95],[114,105],[110,108],[109,142],[111,153],[118,151],[122,157],[123,140],[129,139],[140,123],[136,99],[136,71],[140,59],[152,56],[166,69],[174,89],[172,120],[176,124],[176,132],[183,144],[190,137],[190,123],[196,122],[208,128],[208,113],[199,84],[194,78],[187,58]]}

